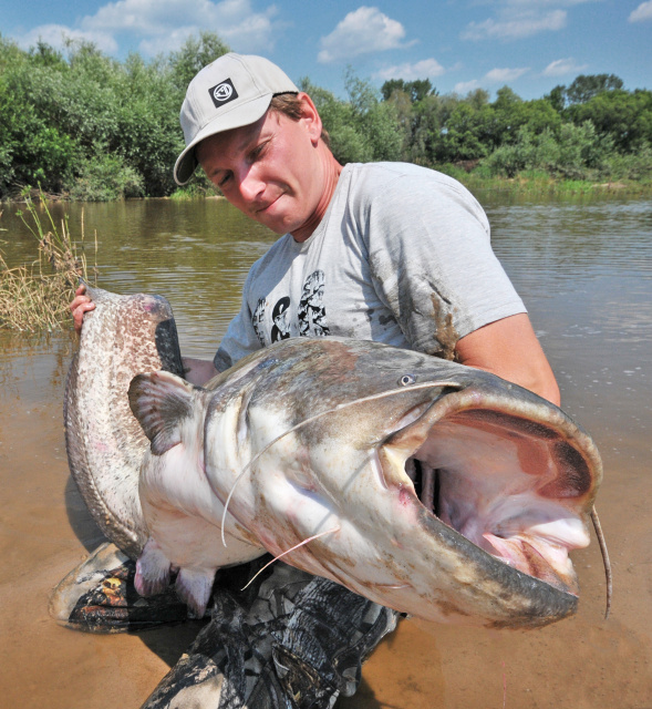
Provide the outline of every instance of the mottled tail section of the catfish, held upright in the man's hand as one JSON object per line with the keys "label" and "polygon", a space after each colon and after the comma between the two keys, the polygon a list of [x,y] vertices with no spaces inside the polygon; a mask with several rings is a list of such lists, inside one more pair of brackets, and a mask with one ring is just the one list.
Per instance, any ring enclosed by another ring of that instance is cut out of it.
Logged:
{"label": "mottled tail section of the catfish, held upright in the man's hand", "polygon": [[139,372],[183,373],[176,326],[161,296],[91,287],[86,294],[95,309],[84,316],[65,386],[68,460],[102,532],[136,558],[147,540],[138,470],[149,442],[131,412],[127,389]]}

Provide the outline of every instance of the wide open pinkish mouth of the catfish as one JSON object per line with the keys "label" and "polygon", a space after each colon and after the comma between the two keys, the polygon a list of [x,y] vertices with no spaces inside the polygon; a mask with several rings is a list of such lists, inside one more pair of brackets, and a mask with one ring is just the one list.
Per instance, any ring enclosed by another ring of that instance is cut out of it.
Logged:
{"label": "wide open pinkish mouth of the catfish", "polygon": [[577,596],[568,554],[589,544],[601,477],[590,436],[544,400],[473,387],[422,411],[385,442],[385,479],[488,554]]}

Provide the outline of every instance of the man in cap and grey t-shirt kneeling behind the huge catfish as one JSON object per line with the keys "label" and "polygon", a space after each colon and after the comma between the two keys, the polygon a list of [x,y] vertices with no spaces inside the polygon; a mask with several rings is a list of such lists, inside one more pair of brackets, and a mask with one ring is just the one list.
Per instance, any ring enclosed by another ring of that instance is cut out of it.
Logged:
{"label": "man in cap and grey t-shirt kneeling behind the huge catfish", "polygon": [[[525,307],[491,251],[487,218],[459,183],[399,163],[343,167],[310,96],[259,56],[231,53],[204,68],[188,86],[180,121],[186,147],[177,183],[200,165],[235,207],[283,235],[251,268],[240,314],[214,361],[184,360],[189,381],[205,383],[278,339],[345,336],[454,358],[559,403]],[[94,306],[80,290],[71,307],[79,331]],[[319,625],[315,598],[328,597],[331,612],[339,598],[353,597],[306,578],[310,618],[301,615],[308,605],[298,604],[286,628],[301,625],[299,617]],[[277,637],[277,674],[294,705],[328,706],[339,691],[352,693],[361,661],[395,624],[371,602],[355,606],[354,618],[348,608],[342,603],[339,616],[331,614],[330,627],[340,618],[341,626],[317,653],[319,662],[312,649],[288,650],[296,635]],[[321,623],[322,631],[328,627]],[[325,703],[301,705],[301,691],[306,697],[310,681],[327,676]]]}

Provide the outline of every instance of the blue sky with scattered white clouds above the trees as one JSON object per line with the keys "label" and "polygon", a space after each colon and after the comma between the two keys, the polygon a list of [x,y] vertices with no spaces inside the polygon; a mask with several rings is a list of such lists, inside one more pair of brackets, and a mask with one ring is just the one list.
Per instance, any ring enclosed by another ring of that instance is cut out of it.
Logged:
{"label": "blue sky with scattered white clouds above the trees", "polygon": [[342,97],[346,65],[377,86],[427,78],[439,93],[507,84],[537,99],[580,73],[652,90],[652,0],[0,0],[0,33],[23,48],[65,33],[152,58],[200,30]]}

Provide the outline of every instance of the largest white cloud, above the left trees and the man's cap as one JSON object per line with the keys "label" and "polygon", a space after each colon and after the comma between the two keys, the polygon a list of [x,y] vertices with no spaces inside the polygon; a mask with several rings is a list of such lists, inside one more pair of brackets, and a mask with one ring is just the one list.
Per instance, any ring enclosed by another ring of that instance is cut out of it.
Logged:
{"label": "largest white cloud, above the left trees and the man's cap", "polygon": [[190,34],[216,32],[236,51],[270,50],[281,23],[275,21],[278,10],[270,4],[255,12],[251,0],[117,0],[89,14],[75,28],[42,25],[24,38],[31,42],[42,37],[54,47],[62,44],[64,32],[72,38],[95,42],[108,53],[117,51],[116,38],[128,33],[139,39],[139,50],[154,55],[178,49]]}

